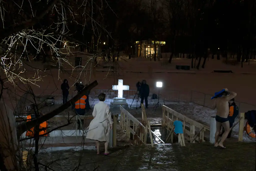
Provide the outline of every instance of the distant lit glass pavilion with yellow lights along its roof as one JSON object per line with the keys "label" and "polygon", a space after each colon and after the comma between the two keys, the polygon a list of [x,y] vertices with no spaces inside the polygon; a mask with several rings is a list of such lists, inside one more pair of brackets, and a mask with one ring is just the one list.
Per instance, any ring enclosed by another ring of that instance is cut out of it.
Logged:
{"label": "distant lit glass pavilion with yellow lights along its roof", "polygon": [[142,40],[135,42],[135,56],[141,58],[161,57],[161,46],[165,45],[165,41],[156,41],[156,52],[154,48],[154,40]]}

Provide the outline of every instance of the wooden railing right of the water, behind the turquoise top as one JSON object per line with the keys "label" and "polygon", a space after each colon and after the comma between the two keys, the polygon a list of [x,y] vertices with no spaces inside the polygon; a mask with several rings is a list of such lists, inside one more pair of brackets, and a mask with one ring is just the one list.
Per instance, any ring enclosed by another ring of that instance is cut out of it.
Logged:
{"label": "wooden railing right of the water, behind the turquoise top", "polygon": [[[163,117],[162,117],[162,126],[167,127],[167,130],[172,130],[173,122],[179,120],[183,122],[183,132],[184,137],[191,143],[205,142],[204,133],[206,130],[210,131],[210,128],[204,124],[201,124],[197,121],[189,119],[181,113],[178,113],[165,105],[162,105],[163,108]],[[166,115],[167,114],[167,115]],[[196,134],[195,134],[196,133]],[[173,132],[171,132],[171,142],[173,143]],[[199,136],[198,136],[199,135]]]}

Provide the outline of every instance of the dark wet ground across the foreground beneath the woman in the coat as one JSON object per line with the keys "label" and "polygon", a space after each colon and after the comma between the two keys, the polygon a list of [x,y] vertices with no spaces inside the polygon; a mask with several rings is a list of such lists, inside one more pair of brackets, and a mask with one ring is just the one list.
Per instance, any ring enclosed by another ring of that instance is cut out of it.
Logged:
{"label": "dark wet ground across the foreground beneath the woman in the coat", "polygon": [[[97,155],[96,151],[58,151],[39,154],[39,161],[53,170],[151,170],[178,171],[255,170],[255,143],[227,144],[227,149],[214,148],[207,143],[155,144],[155,147],[121,146],[110,149],[111,154]],[[102,151],[103,152],[103,151]],[[54,162],[55,161],[55,162]],[[80,163],[80,164],[79,164]],[[45,170],[41,168],[41,170]],[[48,169],[49,170],[49,169]]]}

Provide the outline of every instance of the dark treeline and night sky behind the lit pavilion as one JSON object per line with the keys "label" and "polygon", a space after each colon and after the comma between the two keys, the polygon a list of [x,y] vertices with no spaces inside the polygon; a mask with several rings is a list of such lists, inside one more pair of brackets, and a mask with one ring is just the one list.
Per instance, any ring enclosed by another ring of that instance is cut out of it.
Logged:
{"label": "dark treeline and night sky behind the lit pavilion", "polygon": [[[199,61],[205,63],[208,49],[211,54],[222,57],[227,57],[229,52],[231,58],[241,63],[255,59],[255,0],[96,0],[87,1],[86,5],[84,0],[77,0],[56,6],[60,8],[60,5],[71,9],[65,14],[67,34],[83,42],[81,50],[102,50],[108,56],[110,51],[115,54],[113,52],[121,50],[134,54],[135,41],[159,40],[166,42],[162,52],[171,52],[170,63],[179,53],[198,58],[200,65]],[[29,5],[24,7],[24,16],[20,19],[11,15],[19,12],[19,8],[14,3],[8,7],[14,10],[8,12],[10,15],[5,21],[17,24],[26,16],[32,17],[28,13]],[[46,28],[46,33],[51,33],[47,28],[54,28],[62,18],[62,14],[52,8],[34,29]]]}

